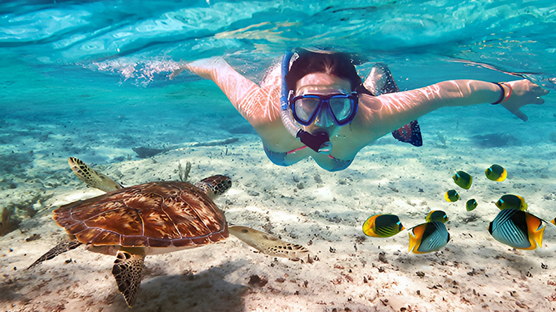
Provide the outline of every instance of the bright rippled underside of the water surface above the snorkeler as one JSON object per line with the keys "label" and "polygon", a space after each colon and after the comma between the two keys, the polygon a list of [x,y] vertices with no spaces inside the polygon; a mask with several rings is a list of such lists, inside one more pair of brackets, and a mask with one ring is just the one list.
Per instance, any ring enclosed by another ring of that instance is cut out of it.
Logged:
{"label": "bright rippled underside of the water surface above the snorkeler", "polygon": [[136,83],[167,79],[180,60],[323,46],[389,63],[457,60],[555,89],[553,1],[10,1],[0,12],[3,53]]}

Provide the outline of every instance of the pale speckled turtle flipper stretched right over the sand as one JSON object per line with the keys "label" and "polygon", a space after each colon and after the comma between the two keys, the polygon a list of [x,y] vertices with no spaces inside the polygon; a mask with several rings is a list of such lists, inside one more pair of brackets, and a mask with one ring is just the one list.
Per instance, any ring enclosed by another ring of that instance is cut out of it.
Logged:
{"label": "pale speckled turtle flipper stretched right over the sand", "polygon": [[228,232],[252,248],[272,257],[295,259],[309,255],[309,250],[302,245],[282,241],[275,236],[250,227],[234,225],[228,227]]}

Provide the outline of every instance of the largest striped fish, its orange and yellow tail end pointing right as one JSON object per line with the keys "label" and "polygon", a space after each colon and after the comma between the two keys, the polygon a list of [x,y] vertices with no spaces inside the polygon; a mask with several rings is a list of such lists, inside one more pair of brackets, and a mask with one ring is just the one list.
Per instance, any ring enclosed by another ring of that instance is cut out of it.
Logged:
{"label": "largest striped fish, its orange and yellow tail end pointing right", "polygon": [[496,241],[517,249],[533,250],[542,246],[545,226],[541,218],[519,209],[502,209],[489,224]]}

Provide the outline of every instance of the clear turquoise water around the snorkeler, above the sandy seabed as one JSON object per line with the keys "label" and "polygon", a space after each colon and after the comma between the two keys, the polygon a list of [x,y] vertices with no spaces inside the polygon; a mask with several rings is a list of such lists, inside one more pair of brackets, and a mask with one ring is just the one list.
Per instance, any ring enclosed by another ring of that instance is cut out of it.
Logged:
{"label": "clear turquoise water around the snorkeler, above the sandy seabed", "polygon": [[[135,146],[224,139],[230,122],[253,135],[211,82],[168,79],[178,62],[216,55],[257,82],[286,49],[318,46],[358,55],[361,75],[388,63],[400,89],[519,77],[556,89],[553,1],[3,1],[0,12],[2,175],[38,155],[104,164]],[[525,107],[528,126],[553,121],[554,94]],[[519,135],[507,112],[468,108]],[[101,153],[107,137],[113,151]]]}

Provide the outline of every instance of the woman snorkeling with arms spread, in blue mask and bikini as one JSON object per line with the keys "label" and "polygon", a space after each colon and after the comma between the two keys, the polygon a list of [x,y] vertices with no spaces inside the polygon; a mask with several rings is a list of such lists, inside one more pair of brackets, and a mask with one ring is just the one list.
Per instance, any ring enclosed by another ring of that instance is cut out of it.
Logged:
{"label": "woman snorkeling with arms spread, in blue mask and bikini", "polygon": [[361,148],[403,125],[402,137],[415,132],[420,140],[416,119],[440,107],[500,104],[526,121],[519,109],[544,103],[541,96],[548,94],[529,80],[449,80],[393,92],[397,87],[384,64],[373,67],[362,82],[350,55],[306,50],[286,53],[282,66],[260,86],[223,58],[183,64],[170,78],[185,69],[222,89],[261,137],[273,163],[289,166],[312,157],[327,171],[347,168]]}

